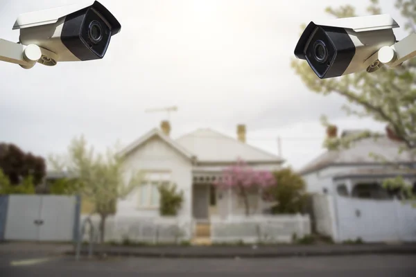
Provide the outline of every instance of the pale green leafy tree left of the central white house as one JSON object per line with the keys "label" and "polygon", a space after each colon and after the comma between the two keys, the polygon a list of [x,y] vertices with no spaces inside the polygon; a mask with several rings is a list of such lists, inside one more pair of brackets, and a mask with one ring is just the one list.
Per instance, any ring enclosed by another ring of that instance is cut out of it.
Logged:
{"label": "pale green leafy tree left of the central white house", "polygon": [[100,240],[105,238],[105,220],[116,212],[116,201],[127,196],[140,185],[141,173],[132,172],[125,181],[123,158],[108,148],[105,155],[94,152],[83,136],[71,141],[64,157],[49,158],[55,170],[66,171],[78,183],[78,193],[94,204],[94,213],[100,216]]}

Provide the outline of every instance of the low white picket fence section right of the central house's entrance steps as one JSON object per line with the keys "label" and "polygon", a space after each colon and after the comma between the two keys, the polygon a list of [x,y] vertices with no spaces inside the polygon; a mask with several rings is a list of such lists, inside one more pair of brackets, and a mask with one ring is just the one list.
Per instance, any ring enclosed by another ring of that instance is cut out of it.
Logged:
{"label": "low white picket fence section right of the central house's entrance steps", "polygon": [[211,241],[220,242],[292,242],[293,236],[311,234],[309,215],[234,217],[211,220]]}

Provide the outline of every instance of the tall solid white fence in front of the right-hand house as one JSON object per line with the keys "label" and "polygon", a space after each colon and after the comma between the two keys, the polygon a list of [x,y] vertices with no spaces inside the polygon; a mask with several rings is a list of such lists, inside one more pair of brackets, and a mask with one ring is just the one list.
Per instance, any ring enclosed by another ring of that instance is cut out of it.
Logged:
{"label": "tall solid white fence in front of the right-hand house", "polygon": [[415,242],[416,208],[398,200],[314,195],[317,229],[335,242]]}

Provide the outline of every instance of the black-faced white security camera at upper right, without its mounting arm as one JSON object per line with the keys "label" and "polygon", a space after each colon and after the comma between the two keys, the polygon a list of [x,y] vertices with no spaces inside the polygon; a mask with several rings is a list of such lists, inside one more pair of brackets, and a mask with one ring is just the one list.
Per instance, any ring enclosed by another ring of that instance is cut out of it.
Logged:
{"label": "black-faced white security camera at upper right, without its mounting arm", "polygon": [[319,78],[333,78],[381,66],[376,55],[383,46],[396,42],[390,15],[371,15],[311,21],[295,48],[295,56],[306,60]]}

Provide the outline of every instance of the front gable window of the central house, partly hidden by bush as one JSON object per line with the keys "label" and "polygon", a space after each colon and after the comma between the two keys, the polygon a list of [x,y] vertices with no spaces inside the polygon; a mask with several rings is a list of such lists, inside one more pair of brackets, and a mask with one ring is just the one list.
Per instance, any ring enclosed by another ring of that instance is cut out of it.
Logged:
{"label": "front gable window of the central house, partly hidden by bush", "polygon": [[159,207],[159,186],[171,182],[170,172],[147,172],[143,183],[139,186],[139,208]]}

